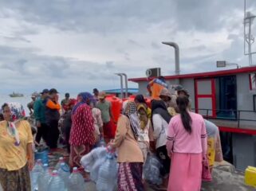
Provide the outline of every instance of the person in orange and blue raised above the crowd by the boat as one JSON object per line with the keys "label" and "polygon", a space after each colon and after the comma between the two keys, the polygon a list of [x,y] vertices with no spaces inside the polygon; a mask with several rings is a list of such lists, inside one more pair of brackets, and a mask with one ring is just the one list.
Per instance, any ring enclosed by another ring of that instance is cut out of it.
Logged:
{"label": "person in orange and blue raised above the crowd by the boat", "polygon": [[148,83],[148,92],[152,99],[160,99],[160,92],[163,88],[168,88],[163,76],[159,76]]}

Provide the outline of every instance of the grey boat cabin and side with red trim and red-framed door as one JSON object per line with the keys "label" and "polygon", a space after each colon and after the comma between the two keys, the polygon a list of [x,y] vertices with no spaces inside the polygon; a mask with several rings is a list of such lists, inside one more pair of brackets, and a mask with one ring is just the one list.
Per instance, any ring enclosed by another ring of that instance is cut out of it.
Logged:
{"label": "grey boat cabin and side with red trim and red-framed door", "polygon": [[[180,84],[191,107],[221,131],[223,156],[239,170],[256,166],[256,66],[164,76],[171,92]],[[147,96],[146,77],[132,78]]]}

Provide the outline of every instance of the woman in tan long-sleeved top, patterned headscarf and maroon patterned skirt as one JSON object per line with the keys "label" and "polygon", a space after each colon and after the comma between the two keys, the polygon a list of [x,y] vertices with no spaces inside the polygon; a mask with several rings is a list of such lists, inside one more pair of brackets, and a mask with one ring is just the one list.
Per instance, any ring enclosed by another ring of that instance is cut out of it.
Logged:
{"label": "woman in tan long-sleeved top, patterned headscarf and maroon patterned skirt", "polygon": [[142,191],[143,154],[137,139],[140,130],[136,104],[128,102],[124,107],[124,115],[117,122],[116,137],[110,142],[110,147],[118,149],[118,190]]}

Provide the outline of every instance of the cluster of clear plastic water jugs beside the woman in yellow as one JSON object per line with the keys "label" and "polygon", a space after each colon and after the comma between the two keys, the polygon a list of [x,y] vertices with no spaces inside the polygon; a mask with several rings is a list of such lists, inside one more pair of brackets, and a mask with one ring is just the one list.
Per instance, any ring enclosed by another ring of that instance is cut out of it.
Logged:
{"label": "cluster of clear plastic water jugs beside the woman in yellow", "polygon": [[84,191],[84,178],[73,168],[73,173],[69,173],[69,166],[65,164],[63,158],[59,159],[55,170],[50,172],[47,164],[42,166],[41,160],[37,160],[36,165],[30,173],[32,191]]}

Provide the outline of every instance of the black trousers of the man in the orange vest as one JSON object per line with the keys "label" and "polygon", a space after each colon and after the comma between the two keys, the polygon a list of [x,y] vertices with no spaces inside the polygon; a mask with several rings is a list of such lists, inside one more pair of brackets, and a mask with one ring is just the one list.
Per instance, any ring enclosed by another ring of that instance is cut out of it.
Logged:
{"label": "black trousers of the man in the orange vest", "polygon": [[49,146],[50,149],[57,149],[57,140],[60,135],[60,131],[58,129],[58,120],[51,120],[48,123],[49,130],[47,132],[47,146]]}

